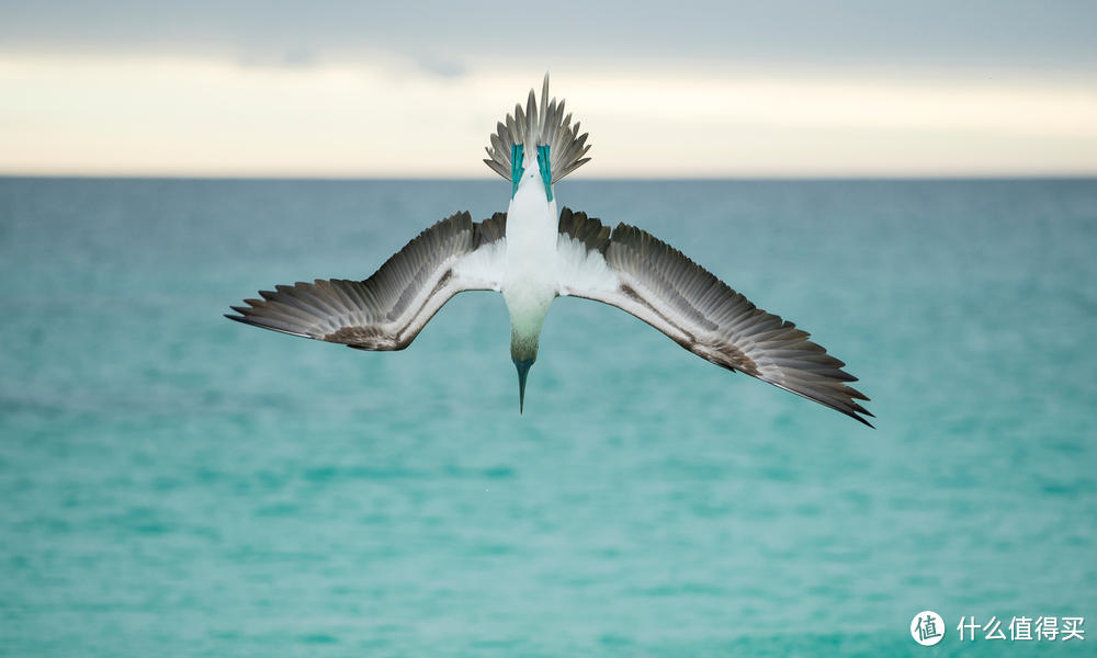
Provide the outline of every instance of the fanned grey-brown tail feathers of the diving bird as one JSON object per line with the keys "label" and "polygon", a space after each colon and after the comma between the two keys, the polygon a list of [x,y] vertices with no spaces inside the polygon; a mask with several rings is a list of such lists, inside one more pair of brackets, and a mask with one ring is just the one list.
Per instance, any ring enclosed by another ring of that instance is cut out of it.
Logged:
{"label": "fanned grey-brown tail feathers of the diving bird", "polygon": [[525,152],[536,152],[536,147],[547,146],[552,182],[555,183],[590,160],[583,157],[590,150],[587,133],[579,134],[579,122],[570,124],[570,113],[564,114],[564,101],[548,100],[548,73],[545,73],[540,104],[531,89],[525,110],[521,104],[514,105],[514,114],[508,114],[506,123],[499,122],[496,126],[491,145],[486,147],[489,157],[484,163],[509,181],[513,171],[510,155],[516,144],[522,145]]}

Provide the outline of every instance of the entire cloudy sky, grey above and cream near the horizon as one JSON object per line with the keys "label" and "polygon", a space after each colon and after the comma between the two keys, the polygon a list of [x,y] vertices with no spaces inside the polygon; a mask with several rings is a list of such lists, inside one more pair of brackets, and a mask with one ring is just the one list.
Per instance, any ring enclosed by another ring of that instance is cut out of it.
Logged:
{"label": "entire cloudy sky, grey above and cream near the horizon", "polygon": [[0,174],[489,178],[540,90],[577,178],[1097,174],[1097,2],[0,0]]}

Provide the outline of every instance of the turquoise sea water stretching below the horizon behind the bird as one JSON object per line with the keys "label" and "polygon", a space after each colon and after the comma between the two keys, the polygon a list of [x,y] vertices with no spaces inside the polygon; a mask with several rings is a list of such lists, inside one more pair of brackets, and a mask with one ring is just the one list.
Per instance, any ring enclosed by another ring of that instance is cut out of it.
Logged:
{"label": "turquoise sea water stretching below the horizon behind the bird", "polygon": [[524,416],[498,295],[397,353],[222,317],[507,192],[0,179],[0,654],[1097,654],[955,632],[1097,627],[1097,181],[558,186],[812,331],[874,431],[580,299]]}

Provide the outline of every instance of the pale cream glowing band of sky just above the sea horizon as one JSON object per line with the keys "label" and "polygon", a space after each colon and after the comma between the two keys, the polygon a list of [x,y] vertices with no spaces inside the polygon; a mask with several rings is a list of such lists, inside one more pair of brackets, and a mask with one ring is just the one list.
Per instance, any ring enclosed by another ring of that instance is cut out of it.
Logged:
{"label": "pale cream glowing band of sky just above the sea horizon", "polygon": [[[0,172],[486,178],[488,133],[541,75],[0,52]],[[553,80],[591,132],[580,177],[1097,172],[1087,84],[590,66]]]}

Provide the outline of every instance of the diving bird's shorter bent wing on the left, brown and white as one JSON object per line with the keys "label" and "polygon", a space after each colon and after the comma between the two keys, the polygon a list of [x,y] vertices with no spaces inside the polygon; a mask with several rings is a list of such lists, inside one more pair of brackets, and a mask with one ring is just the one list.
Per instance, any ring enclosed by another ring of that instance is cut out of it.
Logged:
{"label": "diving bird's shorter bent wing on the left, brown and white", "polygon": [[403,350],[453,295],[499,290],[506,231],[505,213],[479,223],[457,213],[422,231],[365,281],[279,285],[225,317],[360,350]]}

